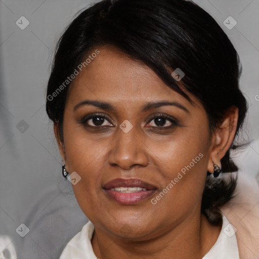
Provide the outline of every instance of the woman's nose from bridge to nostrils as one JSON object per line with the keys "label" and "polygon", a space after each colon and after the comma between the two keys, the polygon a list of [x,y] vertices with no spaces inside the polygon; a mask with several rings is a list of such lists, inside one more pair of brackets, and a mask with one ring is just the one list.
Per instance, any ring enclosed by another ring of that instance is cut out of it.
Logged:
{"label": "woman's nose from bridge to nostrils", "polygon": [[131,169],[134,165],[147,166],[148,147],[137,134],[137,128],[133,127],[131,131],[125,133],[118,127],[117,131],[110,146],[109,163],[125,170]]}

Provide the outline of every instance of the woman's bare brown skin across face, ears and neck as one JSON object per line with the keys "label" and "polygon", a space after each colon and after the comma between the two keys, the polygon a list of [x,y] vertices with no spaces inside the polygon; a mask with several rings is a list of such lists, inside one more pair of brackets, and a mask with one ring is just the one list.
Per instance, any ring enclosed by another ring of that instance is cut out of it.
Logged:
{"label": "woman's bare brown skin across face, ears and neck", "polygon": [[[82,211],[95,225],[95,254],[99,258],[202,258],[217,241],[222,227],[210,225],[200,212],[206,173],[213,172],[213,162],[221,166],[220,160],[234,138],[238,109],[232,107],[222,126],[210,136],[206,111],[194,96],[188,93],[194,101],[192,105],[145,64],[111,46],[97,49],[100,54],[70,85],[64,142],[54,125],[67,171],[76,171],[81,177],[73,190]],[[73,110],[86,99],[108,102],[115,110],[92,105]],[[178,102],[188,112],[176,106],[142,111],[147,102],[161,100]],[[106,129],[92,119],[80,123],[91,113],[108,116],[109,121],[104,119],[102,124],[107,125]],[[178,124],[166,119],[164,125],[158,126],[149,119],[158,114],[171,116]],[[133,125],[128,133],[119,127],[124,120]],[[199,153],[203,157],[152,204],[151,199]],[[138,178],[157,190],[147,200],[122,205],[110,199],[102,188],[115,178]]]}

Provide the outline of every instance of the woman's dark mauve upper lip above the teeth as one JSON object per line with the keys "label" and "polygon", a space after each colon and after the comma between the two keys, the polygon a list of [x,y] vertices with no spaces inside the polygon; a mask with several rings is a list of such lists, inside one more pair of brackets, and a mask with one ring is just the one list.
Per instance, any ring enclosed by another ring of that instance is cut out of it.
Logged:
{"label": "woman's dark mauve upper lip above the teeth", "polygon": [[116,187],[140,187],[147,190],[155,190],[156,187],[137,178],[116,178],[106,183],[103,188],[109,190]]}

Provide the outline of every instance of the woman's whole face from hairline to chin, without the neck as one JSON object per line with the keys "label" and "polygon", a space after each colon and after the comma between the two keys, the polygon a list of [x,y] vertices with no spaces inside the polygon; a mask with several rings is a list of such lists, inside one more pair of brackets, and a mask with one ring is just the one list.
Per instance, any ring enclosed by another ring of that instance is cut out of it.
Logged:
{"label": "woman's whole face from hairline to chin, without the neck", "polygon": [[211,151],[203,106],[115,48],[99,51],[72,81],[64,112],[60,150],[73,182],[81,178],[72,185],[79,206],[96,228],[136,240],[190,223]]}

